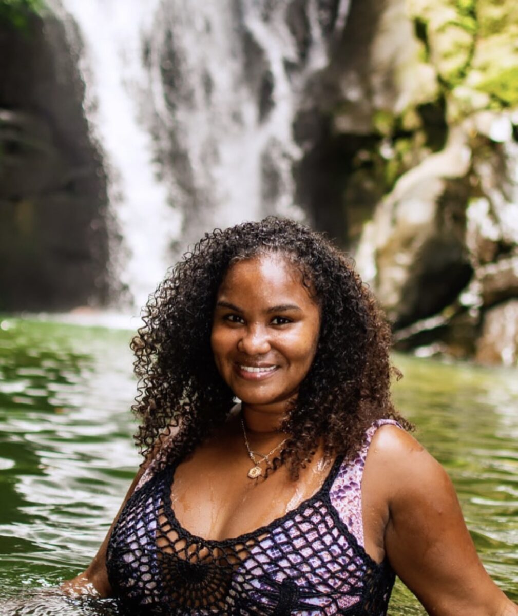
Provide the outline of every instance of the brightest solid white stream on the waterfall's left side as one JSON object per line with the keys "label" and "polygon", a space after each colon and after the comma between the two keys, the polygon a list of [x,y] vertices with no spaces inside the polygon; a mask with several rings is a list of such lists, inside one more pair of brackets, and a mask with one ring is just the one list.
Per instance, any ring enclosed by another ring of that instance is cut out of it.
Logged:
{"label": "brightest solid white stream on the waterfall's left side", "polygon": [[52,8],[68,25],[71,48],[79,51],[84,110],[92,139],[105,158],[111,211],[123,237],[122,254],[111,249],[113,275],[141,306],[163,277],[169,238],[177,237],[181,228],[180,213],[169,203],[152,138],[139,121],[132,95],[145,79],[141,30],[153,13],[152,2],[64,0],[63,7],[66,13],[59,6]]}

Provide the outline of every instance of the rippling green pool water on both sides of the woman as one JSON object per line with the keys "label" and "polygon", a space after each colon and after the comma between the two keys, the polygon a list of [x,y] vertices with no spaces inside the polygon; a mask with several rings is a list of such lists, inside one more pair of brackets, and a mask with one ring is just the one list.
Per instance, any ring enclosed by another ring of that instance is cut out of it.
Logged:
{"label": "rippling green pool water on both sides of the woman", "polygon": [[[139,458],[131,332],[0,318],[0,614],[114,616],[52,587],[89,564]],[[396,357],[416,436],[446,466],[493,578],[518,600],[516,371]],[[397,585],[389,613],[424,614]]]}

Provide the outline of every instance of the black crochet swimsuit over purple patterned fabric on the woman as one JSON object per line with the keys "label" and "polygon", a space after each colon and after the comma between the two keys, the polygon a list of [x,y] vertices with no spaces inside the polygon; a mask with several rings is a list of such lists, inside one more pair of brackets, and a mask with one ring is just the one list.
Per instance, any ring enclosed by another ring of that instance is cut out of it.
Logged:
{"label": "black crochet swimsuit over purple patterned fabric on the woman", "polygon": [[195,537],[177,521],[178,463],[148,468],[111,533],[108,578],[121,609],[139,615],[384,616],[394,585],[387,561],[363,548],[363,466],[338,457],[322,487],[285,516],[240,537]]}

